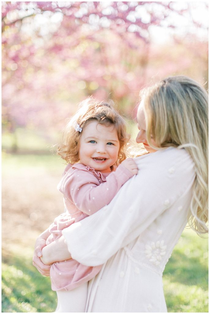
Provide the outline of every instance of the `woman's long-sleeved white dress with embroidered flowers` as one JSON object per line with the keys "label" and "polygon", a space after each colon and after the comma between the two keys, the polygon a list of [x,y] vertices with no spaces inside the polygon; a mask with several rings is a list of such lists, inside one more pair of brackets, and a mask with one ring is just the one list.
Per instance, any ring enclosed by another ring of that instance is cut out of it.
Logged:
{"label": "woman's long-sleeved white dress with embroidered flowers", "polygon": [[63,230],[72,258],[104,264],[86,312],[167,312],[162,273],[187,222],[194,164],[172,147],[135,161],[138,174],[109,205]]}

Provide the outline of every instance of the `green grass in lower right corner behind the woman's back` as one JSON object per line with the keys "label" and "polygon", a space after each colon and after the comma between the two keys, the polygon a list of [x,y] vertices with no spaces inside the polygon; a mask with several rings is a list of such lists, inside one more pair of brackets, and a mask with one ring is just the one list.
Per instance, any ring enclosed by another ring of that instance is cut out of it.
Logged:
{"label": "green grass in lower right corner behind the woman's back", "polygon": [[208,312],[208,240],[184,230],[163,283],[168,312]]}

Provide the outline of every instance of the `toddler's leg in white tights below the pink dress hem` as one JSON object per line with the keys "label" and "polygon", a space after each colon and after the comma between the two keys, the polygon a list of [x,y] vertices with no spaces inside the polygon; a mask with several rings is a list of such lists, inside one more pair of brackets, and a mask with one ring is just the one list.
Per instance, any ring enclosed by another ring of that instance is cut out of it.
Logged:
{"label": "toddler's leg in white tights below the pink dress hem", "polygon": [[88,282],[71,291],[57,291],[58,306],[55,312],[85,312]]}

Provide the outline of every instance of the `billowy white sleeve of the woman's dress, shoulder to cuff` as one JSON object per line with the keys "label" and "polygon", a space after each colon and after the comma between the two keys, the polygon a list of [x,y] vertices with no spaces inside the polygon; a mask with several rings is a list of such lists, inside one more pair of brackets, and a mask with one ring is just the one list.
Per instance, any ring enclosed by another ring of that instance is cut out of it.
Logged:
{"label": "billowy white sleeve of the woman's dress, shoulder to cuff", "polygon": [[72,258],[96,266],[137,238],[192,187],[195,172],[184,149],[136,158],[139,172],[108,206],[62,231]]}

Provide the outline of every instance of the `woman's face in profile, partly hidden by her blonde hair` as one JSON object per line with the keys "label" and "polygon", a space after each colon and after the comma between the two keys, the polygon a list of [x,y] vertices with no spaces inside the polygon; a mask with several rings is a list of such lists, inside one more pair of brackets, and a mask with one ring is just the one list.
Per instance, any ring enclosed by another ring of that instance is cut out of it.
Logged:
{"label": "woman's face in profile, partly hidden by her blonde hair", "polygon": [[[137,122],[138,122],[138,129],[139,133],[137,134],[136,137],[136,142],[137,143],[143,143],[144,148],[149,152],[149,153],[154,153],[156,152],[156,149],[153,147],[149,146],[147,143],[147,136],[146,136],[146,122],[145,122],[145,115],[144,115],[144,103],[143,101],[140,102],[139,108],[137,111]],[[151,143],[155,144],[155,141],[151,138]]]}

